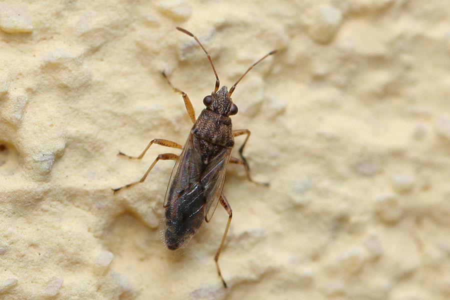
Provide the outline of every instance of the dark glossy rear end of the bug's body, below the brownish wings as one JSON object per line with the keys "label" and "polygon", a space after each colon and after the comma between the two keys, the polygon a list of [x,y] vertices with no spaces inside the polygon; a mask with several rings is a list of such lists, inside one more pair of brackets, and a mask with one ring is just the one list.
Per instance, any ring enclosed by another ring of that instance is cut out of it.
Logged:
{"label": "dark glossy rear end of the bug's body, below the brownish wings", "polygon": [[174,250],[187,242],[203,222],[203,187],[193,184],[165,209],[165,243]]}

